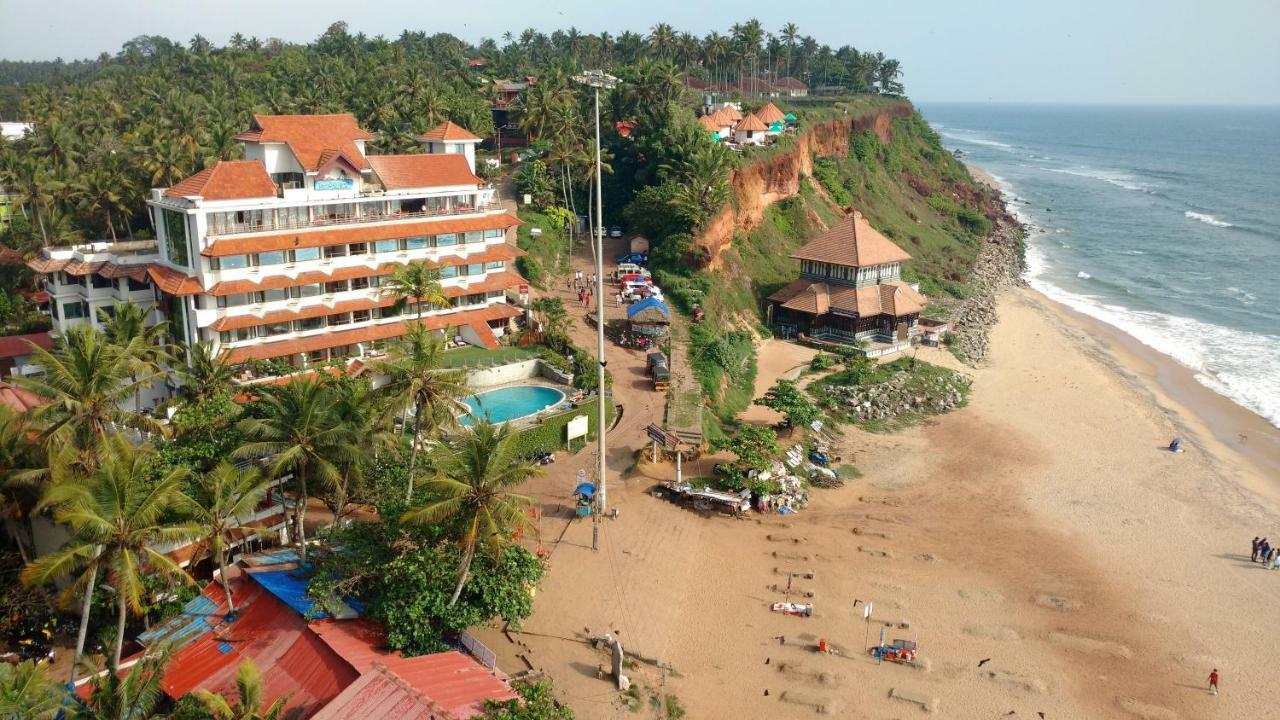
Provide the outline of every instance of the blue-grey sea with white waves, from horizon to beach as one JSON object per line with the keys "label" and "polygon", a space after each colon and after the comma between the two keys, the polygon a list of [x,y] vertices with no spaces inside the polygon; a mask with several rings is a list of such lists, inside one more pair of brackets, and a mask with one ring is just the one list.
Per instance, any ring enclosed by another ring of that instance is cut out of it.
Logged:
{"label": "blue-grey sea with white waves, from horizon to beach", "polygon": [[920,111],[1032,227],[1032,287],[1280,427],[1280,108]]}

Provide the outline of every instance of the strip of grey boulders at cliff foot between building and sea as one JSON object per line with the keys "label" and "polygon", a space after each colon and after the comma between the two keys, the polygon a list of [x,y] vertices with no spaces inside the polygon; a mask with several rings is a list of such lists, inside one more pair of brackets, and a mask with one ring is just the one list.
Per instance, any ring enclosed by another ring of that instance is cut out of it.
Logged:
{"label": "strip of grey boulders at cliff foot between building and sea", "polygon": [[998,319],[996,295],[1006,287],[1027,284],[1023,279],[1027,270],[1025,238],[1027,229],[1005,214],[987,236],[973,264],[973,295],[951,316],[951,348],[970,365],[984,360],[991,350],[991,328]]}

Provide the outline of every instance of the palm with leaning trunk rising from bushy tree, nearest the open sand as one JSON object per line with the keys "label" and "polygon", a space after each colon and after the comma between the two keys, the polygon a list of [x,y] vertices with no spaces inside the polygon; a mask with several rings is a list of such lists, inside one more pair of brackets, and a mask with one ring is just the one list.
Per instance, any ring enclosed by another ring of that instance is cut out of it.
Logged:
{"label": "palm with leaning trunk rising from bushy tree, nearest the open sand", "polygon": [[401,518],[411,524],[456,524],[462,565],[449,607],[462,594],[477,544],[498,551],[516,530],[536,530],[524,512],[532,500],[511,492],[541,473],[538,465],[517,457],[517,437],[511,425],[476,423],[457,443],[457,452],[444,460],[440,477],[424,486],[431,500]]}

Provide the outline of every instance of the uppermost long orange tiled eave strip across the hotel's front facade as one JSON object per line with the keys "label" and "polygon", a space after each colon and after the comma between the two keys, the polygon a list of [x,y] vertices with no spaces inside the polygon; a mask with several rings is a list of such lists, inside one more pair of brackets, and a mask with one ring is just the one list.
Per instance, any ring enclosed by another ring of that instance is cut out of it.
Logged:
{"label": "uppermost long orange tiled eave strip across the hotel's front facade", "polygon": [[343,228],[310,228],[255,234],[251,237],[215,240],[209,245],[209,247],[201,251],[201,255],[209,258],[224,258],[227,255],[244,255],[246,252],[269,252],[273,250],[296,250],[300,247],[324,247],[325,245],[343,245],[348,242],[376,242],[379,240],[397,240],[401,237],[413,237],[421,234],[507,229],[518,224],[521,223],[515,215],[511,213],[502,213],[499,215],[481,215],[477,218],[452,218],[390,225],[378,224]]}

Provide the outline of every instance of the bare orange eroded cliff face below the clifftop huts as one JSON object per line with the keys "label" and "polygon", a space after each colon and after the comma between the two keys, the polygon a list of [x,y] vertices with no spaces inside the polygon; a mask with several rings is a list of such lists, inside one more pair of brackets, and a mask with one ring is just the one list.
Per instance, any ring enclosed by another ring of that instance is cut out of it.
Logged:
{"label": "bare orange eroded cliff face below the clifftop huts", "polygon": [[764,210],[800,192],[800,178],[813,174],[813,159],[849,152],[855,132],[872,131],[888,142],[893,118],[911,115],[908,104],[890,105],[873,113],[818,123],[800,133],[791,150],[760,158],[733,170],[733,199],[696,238],[695,247],[708,269],[717,269],[733,233],[750,232],[764,219]]}

